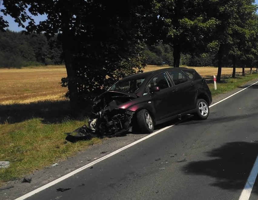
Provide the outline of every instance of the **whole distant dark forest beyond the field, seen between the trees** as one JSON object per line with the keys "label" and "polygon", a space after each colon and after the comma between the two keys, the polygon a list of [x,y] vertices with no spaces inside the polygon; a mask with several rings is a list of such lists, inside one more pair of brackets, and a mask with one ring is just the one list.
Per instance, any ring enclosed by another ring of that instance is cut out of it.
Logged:
{"label": "whole distant dark forest beyond the field, seen between the trees", "polygon": [[[146,64],[173,66],[173,48],[168,44],[143,45]],[[225,59],[226,61],[226,59]],[[0,31],[0,67],[27,67],[37,65],[60,65],[62,59],[61,44],[57,36],[47,40],[44,34],[26,35],[21,32]],[[181,65],[216,66],[213,55],[206,57],[182,54]],[[224,65],[230,63],[224,62]]]}

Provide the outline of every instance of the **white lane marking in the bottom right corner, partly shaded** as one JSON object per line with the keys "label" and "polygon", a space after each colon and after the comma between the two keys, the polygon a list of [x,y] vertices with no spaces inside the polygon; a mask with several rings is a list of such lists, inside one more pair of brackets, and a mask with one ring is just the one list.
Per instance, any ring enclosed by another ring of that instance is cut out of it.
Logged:
{"label": "white lane marking in the bottom right corner, partly shaded", "polygon": [[241,192],[241,195],[239,197],[238,200],[248,200],[250,198],[252,189],[253,189],[253,185],[255,182],[255,179],[257,177],[257,173],[258,173],[258,156],[256,158],[256,161],[254,162],[253,165],[253,169],[251,170],[249,177],[246,181],[246,185],[244,187],[244,189]]}

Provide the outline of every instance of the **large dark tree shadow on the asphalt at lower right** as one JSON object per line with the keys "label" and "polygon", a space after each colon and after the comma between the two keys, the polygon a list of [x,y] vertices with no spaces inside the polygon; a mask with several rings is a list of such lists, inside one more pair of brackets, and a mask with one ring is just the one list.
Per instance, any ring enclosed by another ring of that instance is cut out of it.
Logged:
{"label": "large dark tree shadow on the asphalt at lower right", "polygon": [[[226,143],[207,152],[210,160],[190,162],[182,171],[215,178],[211,185],[227,190],[243,189],[258,153],[258,141]],[[258,188],[253,191],[258,193]]]}

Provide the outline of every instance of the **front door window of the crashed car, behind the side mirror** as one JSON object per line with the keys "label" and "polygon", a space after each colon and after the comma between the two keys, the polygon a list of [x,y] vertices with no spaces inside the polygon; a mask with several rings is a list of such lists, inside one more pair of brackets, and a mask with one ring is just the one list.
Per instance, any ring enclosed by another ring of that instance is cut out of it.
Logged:
{"label": "front door window of the crashed car, behind the side mirror", "polygon": [[153,86],[158,86],[160,90],[171,87],[170,81],[166,75],[166,73],[157,74],[151,78],[148,87],[151,88]]}

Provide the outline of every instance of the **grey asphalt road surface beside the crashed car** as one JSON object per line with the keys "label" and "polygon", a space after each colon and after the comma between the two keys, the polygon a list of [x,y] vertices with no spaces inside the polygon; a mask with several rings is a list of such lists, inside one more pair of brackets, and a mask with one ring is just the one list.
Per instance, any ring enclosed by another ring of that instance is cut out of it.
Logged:
{"label": "grey asphalt road surface beside the crashed car", "polygon": [[[158,133],[30,200],[237,200],[258,153],[258,85]],[[64,192],[58,188],[71,188]],[[258,199],[256,181],[249,199]]]}

